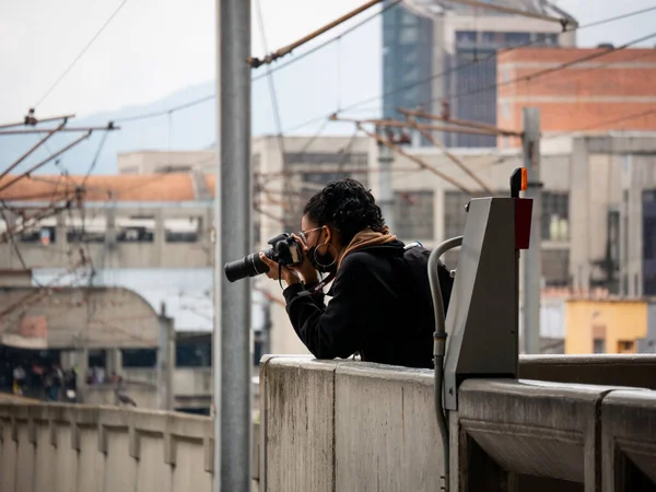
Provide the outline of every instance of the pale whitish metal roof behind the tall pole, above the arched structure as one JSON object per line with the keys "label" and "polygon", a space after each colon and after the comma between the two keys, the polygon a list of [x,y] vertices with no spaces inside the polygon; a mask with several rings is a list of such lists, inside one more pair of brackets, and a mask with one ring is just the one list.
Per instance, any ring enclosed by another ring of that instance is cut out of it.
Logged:
{"label": "pale whitish metal roof behind the tall pole, above the arched structure", "polygon": [[[86,280],[65,276],[61,269],[35,269],[42,284],[86,286]],[[213,330],[213,272],[211,268],[97,270],[94,285],[122,286],[141,295],[157,313],[162,304],[173,317],[176,331]],[[253,293],[251,329],[263,324],[260,293]]]}

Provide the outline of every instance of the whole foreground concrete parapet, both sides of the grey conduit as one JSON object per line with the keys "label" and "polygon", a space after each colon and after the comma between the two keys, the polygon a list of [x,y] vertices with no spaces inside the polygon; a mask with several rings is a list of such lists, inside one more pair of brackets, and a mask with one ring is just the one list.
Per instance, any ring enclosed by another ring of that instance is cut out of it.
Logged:
{"label": "whole foreground concrete parapet, both sides of the grey conduit", "polygon": [[[430,371],[269,356],[260,382],[261,491],[440,490]],[[656,487],[654,391],[479,379],[458,396],[452,491]]]}

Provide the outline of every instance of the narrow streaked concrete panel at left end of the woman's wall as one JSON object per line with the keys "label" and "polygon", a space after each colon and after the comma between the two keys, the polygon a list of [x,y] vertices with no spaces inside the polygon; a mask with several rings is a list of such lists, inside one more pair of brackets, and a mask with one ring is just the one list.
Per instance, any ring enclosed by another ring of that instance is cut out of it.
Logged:
{"label": "narrow streaked concrete panel at left end of the woman's wall", "polygon": [[261,490],[333,491],[338,364],[308,358],[262,359]]}

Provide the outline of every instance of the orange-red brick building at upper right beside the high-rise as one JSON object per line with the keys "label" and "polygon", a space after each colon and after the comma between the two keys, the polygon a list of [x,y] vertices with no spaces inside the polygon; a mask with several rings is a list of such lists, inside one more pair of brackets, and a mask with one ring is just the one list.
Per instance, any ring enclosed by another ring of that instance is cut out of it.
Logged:
{"label": "orange-red brick building at upper right beside the high-rise", "polygon": [[[656,131],[656,50],[617,50],[560,69],[564,63],[607,52],[600,48],[518,48],[497,57],[499,127],[522,131],[522,110],[539,107],[542,134]],[[531,73],[551,73],[526,80]],[[517,81],[518,83],[512,83]],[[502,137],[500,147],[519,147]]]}

